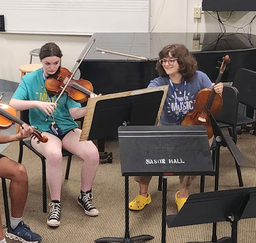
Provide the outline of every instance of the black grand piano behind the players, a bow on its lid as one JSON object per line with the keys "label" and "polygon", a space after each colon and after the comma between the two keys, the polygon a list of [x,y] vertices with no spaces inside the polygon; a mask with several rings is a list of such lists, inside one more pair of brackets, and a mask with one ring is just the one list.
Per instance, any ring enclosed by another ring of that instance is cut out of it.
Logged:
{"label": "black grand piano behind the players, a bow on its lid", "polygon": [[[253,34],[95,33],[77,63],[94,39],[79,71],[81,78],[92,82],[95,93],[111,94],[147,87],[150,80],[158,76],[155,66],[159,50],[171,43],[186,45],[198,62],[198,70],[207,73],[212,82],[218,77],[222,57],[227,54],[231,61],[222,82],[232,82],[239,68],[256,71],[256,35]],[[109,54],[96,48],[147,57],[148,60]]]}

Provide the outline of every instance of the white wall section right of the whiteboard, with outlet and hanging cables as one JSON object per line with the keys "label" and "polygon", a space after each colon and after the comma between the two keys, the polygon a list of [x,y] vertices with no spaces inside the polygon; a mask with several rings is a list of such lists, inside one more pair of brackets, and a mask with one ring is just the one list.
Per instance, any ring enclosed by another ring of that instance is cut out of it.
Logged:
{"label": "white wall section right of the whiteboard, with outlet and hanging cables", "polygon": [[[212,0],[214,1],[214,0]],[[224,0],[223,0],[224,1]],[[151,0],[151,31],[152,32],[220,32],[218,21],[209,13],[202,13],[200,19],[194,19],[194,8],[201,7],[202,0]],[[230,12],[221,12],[221,19],[227,19]],[[232,13],[230,20],[225,22],[230,26],[243,27],[252,20],[256,12]],[[212,13],[216,16],[216,13]],[[252,33],[256,34],[256,20]],[[247,28],[244,28],[247,32]],[[227,32],[236,32],[236,28],[226,27]],[[243,30],[239,30],[240,33]]]}

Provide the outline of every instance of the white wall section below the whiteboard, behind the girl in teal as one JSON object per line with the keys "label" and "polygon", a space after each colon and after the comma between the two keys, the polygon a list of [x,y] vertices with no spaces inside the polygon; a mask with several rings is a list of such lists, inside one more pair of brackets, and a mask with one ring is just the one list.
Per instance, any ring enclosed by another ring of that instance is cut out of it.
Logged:
{"label": "white wall section below the whiteboard, behind the girl in teal", "polygon": [[[60,46],[62,66],[71,70],[88,40],[90,36],[0,33],[0,78],[20,82],[19,66],[29,63],[29,52],[50,41]],[[32,62],[40,63],[38,57],[33,57]]]}

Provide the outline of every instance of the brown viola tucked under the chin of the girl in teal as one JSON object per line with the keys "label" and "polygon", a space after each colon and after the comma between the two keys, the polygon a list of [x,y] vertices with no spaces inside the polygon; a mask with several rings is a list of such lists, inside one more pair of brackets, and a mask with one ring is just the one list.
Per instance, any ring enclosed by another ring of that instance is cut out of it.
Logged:
{"label": "brown viola tucked under the chin of the girl in teal", "polygon": [[[47,77],[45,80],[45,87],[52,94],[60,94],[71,76],[72,73],[68,71],[67,68],[60,68],[60,71]],[[90,98],[90,94],[94,94],[92,83],[83,78],[80,78],[79,80],[72,78],[69,81],[65,92],[67,92],[70,98],[79,103],[84,103]],[[96,96],[96,94],[94,95]]]}

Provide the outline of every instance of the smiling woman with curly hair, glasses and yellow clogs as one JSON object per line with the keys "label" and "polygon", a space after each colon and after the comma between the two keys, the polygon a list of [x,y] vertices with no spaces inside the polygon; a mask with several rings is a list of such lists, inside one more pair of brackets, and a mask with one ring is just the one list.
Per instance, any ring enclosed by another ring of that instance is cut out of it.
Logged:
{"label": "smiling woman with curly hair, glasses and yellow clogs", "polygon": [[[195,58],[182,44],[168,45],[159,52],[156,70],[160,77],[152,80],[148,87],[170,85],[160,117],[161,125],[180,125],[185,115],[195,108],[196,95],[201,89],[213,87],[216,93],[222,93],[222,83],[212,84],[205,73],[196,71],[196,69]],[[210,145],[212,140],[213,137],[209,139]],[[140,184],[140,193],[129,203],[129,209],[141,210],[151,202],[148,194],[151,177],[137,176],[134,179]],[[180,176],[180,191],[175,195],[178,210],[189,196],[189,188],[193,179],[195,176]]]}

